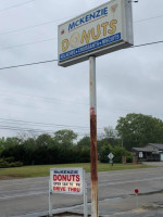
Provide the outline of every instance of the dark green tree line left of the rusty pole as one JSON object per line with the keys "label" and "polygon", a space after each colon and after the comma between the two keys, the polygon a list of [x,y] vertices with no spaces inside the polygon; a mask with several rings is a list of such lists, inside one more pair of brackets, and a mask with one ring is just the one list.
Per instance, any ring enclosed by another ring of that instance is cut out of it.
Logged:
{"label": "dark green tree line left of the rusty pole", "polygon": [[23,165],[43,165],[89,162],[89,148],[79,148],[73,130],[59,130],[54,136],[42,133],[36,138],[1,139],[1,158],[13,157]]}

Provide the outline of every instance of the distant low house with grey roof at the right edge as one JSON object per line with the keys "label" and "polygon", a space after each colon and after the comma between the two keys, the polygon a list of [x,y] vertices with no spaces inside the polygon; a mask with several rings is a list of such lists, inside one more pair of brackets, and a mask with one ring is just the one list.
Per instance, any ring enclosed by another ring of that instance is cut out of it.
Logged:
{"label": "distant low house with grey roof at the right edge", "polygon": [[146,162],[163,162],[163,144],[149,143],[145,148],[133,148],[133,152]]}

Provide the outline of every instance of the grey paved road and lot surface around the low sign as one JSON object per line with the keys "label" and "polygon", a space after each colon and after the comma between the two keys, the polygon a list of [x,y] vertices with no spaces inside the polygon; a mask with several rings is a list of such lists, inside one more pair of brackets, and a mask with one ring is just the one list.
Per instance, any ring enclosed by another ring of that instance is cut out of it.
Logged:
{"label": "grey paved road and lot surface around the low sign", "polygon": [[[87,174],[88,202],[90,202],[90,175]],[[139,207],[134,189],[138,188]],[[163,167],[99,173],[99,210],[101,216],[159,216],[163,206]],[[53,195],[53,208],[75,206],[82,210],[83,197]],[[78,206],[77,206],[78,205]],[[67,209],[67,208],[66,208]],[[72,209],[72,208],[71,208]],[[156,209],[158,214],[154,214]],[[48,178],[0,181],[0,217],[25,216],[48,210]],[[89,205],[90,210],[90,205]],[[135,213],[129,213],[134,212]],[[145,215],[145,210],[146,215]],[[152,212],[151,212],[152,210]],[[127,213],[126,213],[127,212]],[[36,215],[37,216],[37,215]],[[161,213],[160,216],[163,216]]]}

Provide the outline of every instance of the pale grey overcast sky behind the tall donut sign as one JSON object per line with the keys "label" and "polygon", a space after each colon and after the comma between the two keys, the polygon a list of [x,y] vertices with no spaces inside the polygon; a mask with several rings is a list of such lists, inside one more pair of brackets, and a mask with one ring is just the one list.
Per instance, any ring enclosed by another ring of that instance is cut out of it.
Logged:
{"label": "pale grey overcast sky behind the tall donut sign", "polygon": [[[58,25],[105,2],[0,0],[0,67],[58,59]],[[139,0],[133,15],[135,46],[163,40],[163,0]],[[127,113],[163,119],[162,52],[158,43],[97,59],[98,132]],[[0,137],[17,128],[88,133],[89,62],[0,71]]]}

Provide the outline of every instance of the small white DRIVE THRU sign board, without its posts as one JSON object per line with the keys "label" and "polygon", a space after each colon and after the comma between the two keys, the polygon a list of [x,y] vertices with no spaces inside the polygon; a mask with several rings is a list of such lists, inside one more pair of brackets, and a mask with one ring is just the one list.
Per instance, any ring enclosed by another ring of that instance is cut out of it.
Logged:
{"label": "small white DRIVE THRU sign board, without its posts", "polygon": [[50,188],[53,193],[84,194],[83,168],[51,168]]}

